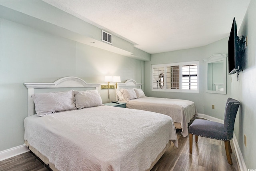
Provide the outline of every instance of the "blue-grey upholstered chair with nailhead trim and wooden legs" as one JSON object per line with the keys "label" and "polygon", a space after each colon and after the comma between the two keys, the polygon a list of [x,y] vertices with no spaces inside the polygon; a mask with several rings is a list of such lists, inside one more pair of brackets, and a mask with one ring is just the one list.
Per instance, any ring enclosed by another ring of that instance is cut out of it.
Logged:
{"label": "blue-grey upholstered chair with nailhead trim and wooden legs", "polygon": [[193,135],[196,137],[196,143],[198,141],[198,136],[222,140],[225,141],[228,163],[232,165],[230,140],[233,138],[234,123],[239,105],[239,101],[228,98],[226,102],[224,124],[204,119],[195,119],[188,131],[189,152],[192,154]]}

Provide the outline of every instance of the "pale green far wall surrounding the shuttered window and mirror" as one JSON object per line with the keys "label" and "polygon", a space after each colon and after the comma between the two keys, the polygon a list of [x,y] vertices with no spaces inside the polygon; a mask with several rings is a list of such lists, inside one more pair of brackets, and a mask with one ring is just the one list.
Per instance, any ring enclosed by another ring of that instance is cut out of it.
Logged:
{"label": "pale green far wall surrounding the shuttered window and mirror", "polygon": [[[151,61],[145,62],[145,94],[152,97],[166,97],[175,99],[187,99],[194,101],[198,113],[207,114],[219,119],[223,119],[223,111],[225,103],[229,96],[223,94],[206,93],[206,64],[204,59],[213,54],[227,54],[228,53],[228,38],[224,38],[207,46],[192,48],[186,50],[179,50],[173,52],[165,52],[159,54],[152,54]],[[168,64],[176,62],[200,61],[200,83],[199,93],[175,93],[175,92],[157,92],[151,91],[150,84],[150,70],[152,64]],[[229,84],[228,84],[229,85]],[[212,104],[215,109],[212,109]]]}

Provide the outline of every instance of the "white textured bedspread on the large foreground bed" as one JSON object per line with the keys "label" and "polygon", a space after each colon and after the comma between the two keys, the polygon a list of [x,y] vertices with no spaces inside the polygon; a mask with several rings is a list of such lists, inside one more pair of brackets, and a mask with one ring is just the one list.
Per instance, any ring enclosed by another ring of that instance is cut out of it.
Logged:
{"label": "white textured bedspread on the large foreground bed", "polygon": [[32,115],[24,127],[24,139],[60,171],[143,171],[169,140],[178,147],[171,117],[121,107]]}

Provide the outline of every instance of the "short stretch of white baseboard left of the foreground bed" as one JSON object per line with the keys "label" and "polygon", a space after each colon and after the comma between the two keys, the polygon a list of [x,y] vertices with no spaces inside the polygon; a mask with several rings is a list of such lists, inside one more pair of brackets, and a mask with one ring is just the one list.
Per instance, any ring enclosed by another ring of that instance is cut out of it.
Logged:
{"label": "short stretch of white baseboard left of the foreground bed", "polygon": [[4,151],[0,151],[0,161],[9,159],[16,155],[20,155],[30,151],[26,145],[19,145],[17,147],[13,147]]}

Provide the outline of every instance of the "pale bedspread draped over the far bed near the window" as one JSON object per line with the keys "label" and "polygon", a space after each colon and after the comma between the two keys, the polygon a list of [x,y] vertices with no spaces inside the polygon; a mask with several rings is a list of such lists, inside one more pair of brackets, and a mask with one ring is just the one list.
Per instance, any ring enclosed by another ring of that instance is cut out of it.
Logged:
{"label": "pale bedspread draped over the far bed near the window", "polygon": [[127,108],[153,111],[172,117],[174,122],[181,123],[181,133],[184,137],[188,136],[190,119],[197,114],[195,103],[189,100],[142,97],[122,102],[127,103]]}

